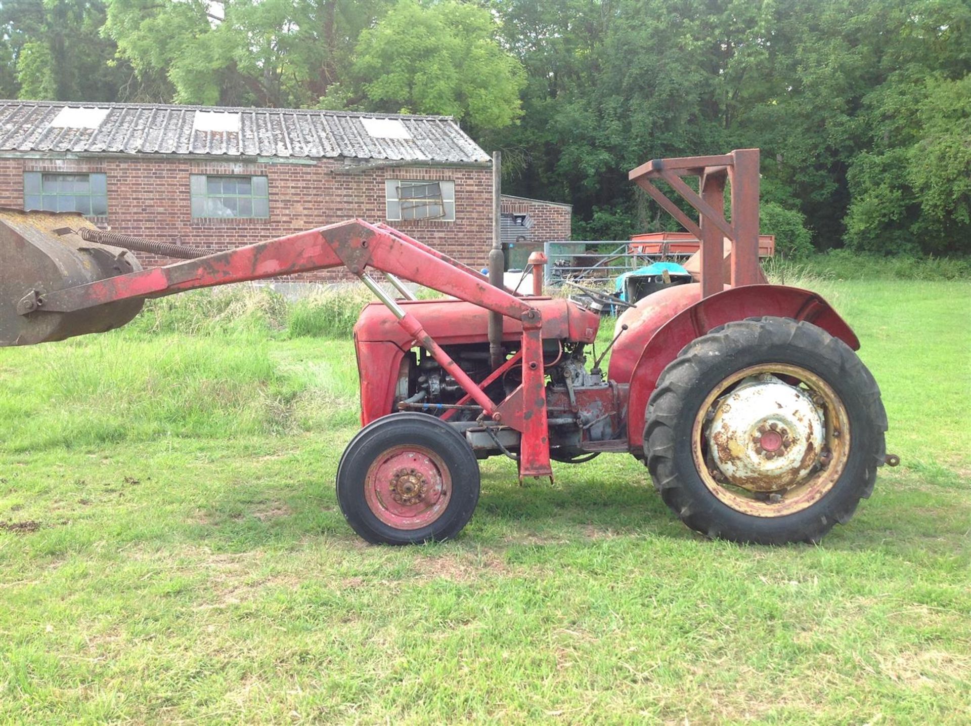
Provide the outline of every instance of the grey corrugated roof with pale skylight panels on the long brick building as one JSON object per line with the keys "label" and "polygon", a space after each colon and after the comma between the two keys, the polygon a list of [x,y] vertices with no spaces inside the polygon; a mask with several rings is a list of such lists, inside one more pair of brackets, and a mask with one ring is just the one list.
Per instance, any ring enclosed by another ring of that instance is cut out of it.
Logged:
{"label": "grey corrugated roof with pale skylight panels on the long brick building", "polygon": [[4,152],[489,160],[443,116],[0,100]]}

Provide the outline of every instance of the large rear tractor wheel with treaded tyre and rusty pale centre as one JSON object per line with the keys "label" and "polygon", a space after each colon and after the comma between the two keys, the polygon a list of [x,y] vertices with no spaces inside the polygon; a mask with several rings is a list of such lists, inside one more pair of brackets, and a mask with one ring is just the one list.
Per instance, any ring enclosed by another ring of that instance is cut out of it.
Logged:
{"label": "large rear tractor wheel with treaded tyre and rusty pale centre", "polygon": [[817,542],[870,496],[887,414],[842,340],[810,323],[729,323],[689,343],[648,402],[645,461],[693,530]]}

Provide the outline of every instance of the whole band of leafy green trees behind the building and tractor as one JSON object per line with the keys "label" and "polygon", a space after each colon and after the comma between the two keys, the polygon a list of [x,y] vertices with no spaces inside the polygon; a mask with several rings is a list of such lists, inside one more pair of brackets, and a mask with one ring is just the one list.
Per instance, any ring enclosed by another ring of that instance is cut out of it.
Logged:
{"label": "whole band of leafy green trees behind the building and tractor", "polygon": [[670,227],[645,159],[758,147],[794,254],[971,253],[969,73],[967,0],[0,0],[6,96],[449,114],[581,236]]}

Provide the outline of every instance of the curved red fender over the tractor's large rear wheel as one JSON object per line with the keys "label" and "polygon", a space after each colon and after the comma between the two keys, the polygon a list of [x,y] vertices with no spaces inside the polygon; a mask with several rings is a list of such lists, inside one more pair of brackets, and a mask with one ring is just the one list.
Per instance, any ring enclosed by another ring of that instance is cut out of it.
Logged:
{"label": "curved red fender over the tractor's large rear wheel", "polygon": [[[658,297],[659,296],[659,297]],[[626,311],[618,325],[630,329],[618,340],[611,355],[610,380],[630,383],[627,435],[630,451],[643,451],[644,420],[661,371],[685,346],[714,328],[765,315],[803,320],[840,338],[854,350],[854,331],[820,294],[780,285],[747,285],[700,299],[697,284],[681,285],[653,294],[647,306]],[[657,299],[655,299],[657,298]]]}

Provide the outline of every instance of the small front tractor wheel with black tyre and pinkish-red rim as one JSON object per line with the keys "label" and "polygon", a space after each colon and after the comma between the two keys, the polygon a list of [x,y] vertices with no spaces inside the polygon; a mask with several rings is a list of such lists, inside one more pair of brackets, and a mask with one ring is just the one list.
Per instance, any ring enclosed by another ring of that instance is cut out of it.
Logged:
{"label": "small front tractor wheel with black tyre and pinkish-red rim", "polygon": [[374,544],[449,539],[479,501],[479,463],[465,437],[423,413],[393,413],[361,429],[337,467],[337,501]]}

